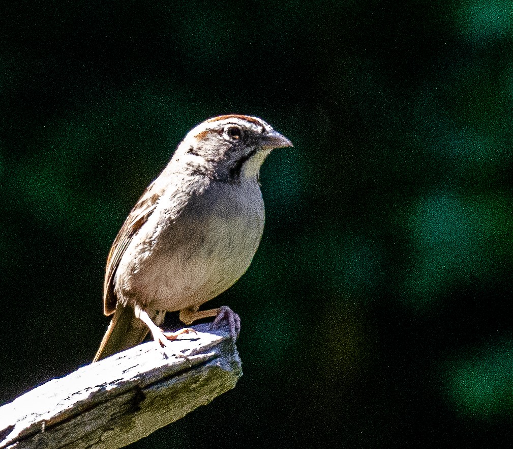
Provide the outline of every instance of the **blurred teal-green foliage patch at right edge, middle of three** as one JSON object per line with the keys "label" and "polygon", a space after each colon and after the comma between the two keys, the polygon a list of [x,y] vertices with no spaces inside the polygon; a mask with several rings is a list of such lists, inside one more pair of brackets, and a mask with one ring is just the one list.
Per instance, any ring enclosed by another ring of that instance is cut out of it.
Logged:
{"label": "blurred teal-green foliage patch at right edge, middle of three", "polygon": [[459,197],[447,192],[423,198],[411,214],[411,274],[404,297],[420,306],[486,281],[513,257],[510,198],[489,193]]}

